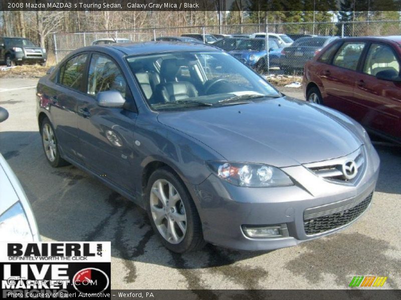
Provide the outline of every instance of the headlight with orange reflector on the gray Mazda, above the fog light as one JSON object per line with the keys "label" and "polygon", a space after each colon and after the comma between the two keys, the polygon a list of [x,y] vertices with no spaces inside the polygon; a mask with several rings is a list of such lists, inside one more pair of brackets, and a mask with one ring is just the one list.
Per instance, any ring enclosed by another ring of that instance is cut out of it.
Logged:
{"label": "headlight with orange reflector on the gray Mazda, above the fog light", "polygon": [[209,161],[213,172],[234,185],[271,187],[293,185],[291,178],[277,167],[265,164]]}

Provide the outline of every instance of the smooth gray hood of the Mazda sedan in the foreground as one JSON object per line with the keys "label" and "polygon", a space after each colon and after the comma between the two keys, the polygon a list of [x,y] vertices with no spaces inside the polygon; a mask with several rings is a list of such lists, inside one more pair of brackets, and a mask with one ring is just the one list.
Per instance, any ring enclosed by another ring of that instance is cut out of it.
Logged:
{"label": "smooth gray hood of the Mazda sedan in the foreground", "polygon": [[344,156],[363,143],[349,121],[286,96],[162,112],[158,120],[205,143],[229,161],[280,167]]}

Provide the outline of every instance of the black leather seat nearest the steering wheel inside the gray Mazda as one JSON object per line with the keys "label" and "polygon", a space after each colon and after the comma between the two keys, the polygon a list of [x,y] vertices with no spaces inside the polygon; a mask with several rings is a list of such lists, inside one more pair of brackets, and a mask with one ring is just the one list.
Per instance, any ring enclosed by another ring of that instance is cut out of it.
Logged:
{"label": "black leather seat nearest the steering wheel inside the gray Mazda", "polygon": [[182,100],[196,97],[198,92],[195,86],[188,81],[178,81],[177,74],[180,71],[178,59],[164,59],[160,65],[160,81],[156,86],[153,103]]}

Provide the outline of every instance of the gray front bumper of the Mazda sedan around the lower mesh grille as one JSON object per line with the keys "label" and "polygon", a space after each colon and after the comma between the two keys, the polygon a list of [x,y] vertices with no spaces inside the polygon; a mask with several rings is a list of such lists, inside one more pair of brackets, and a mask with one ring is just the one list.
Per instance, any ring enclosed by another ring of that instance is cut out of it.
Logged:
{"label": "gray front bumper of the Mazda sedan around the lower mesh grille", "polygon": [[[377,181],[379,158],[373,147],[366,151],[366,156],[364,173],[356,185],[333,183],[303,166],[282,168],[296,180],[295,185],[285,187],[238,187],[216,175],[210,175],[203,183],[192,186],[204,238],[228,248],[272,250],[293,246],[349,226],[365,209],[351,221],[316,234],[305,232],[304,217],[318,217],[325,215],[325,212],[343,213],[368,198]],[[288,236],[250,238],[242,229],[242,225],[276,224],[284,225],[288,229]]]}

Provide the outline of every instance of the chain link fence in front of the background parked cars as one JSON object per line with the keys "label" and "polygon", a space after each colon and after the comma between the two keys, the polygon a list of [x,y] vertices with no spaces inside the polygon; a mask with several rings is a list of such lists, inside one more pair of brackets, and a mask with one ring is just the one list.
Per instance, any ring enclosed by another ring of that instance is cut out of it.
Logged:
{"label": "chain link fence in front of the background parked cars", "polygon": [[[397,35],[401,21],[236,24],[55,33],[56,61],[94,43],[194,38],[214,44],[267,76],[273,84],[300,81],[305,62],[338,37]],[[266,34],[268,33],[268,34]],[[184,36],[183,36],[184,35]]]}

